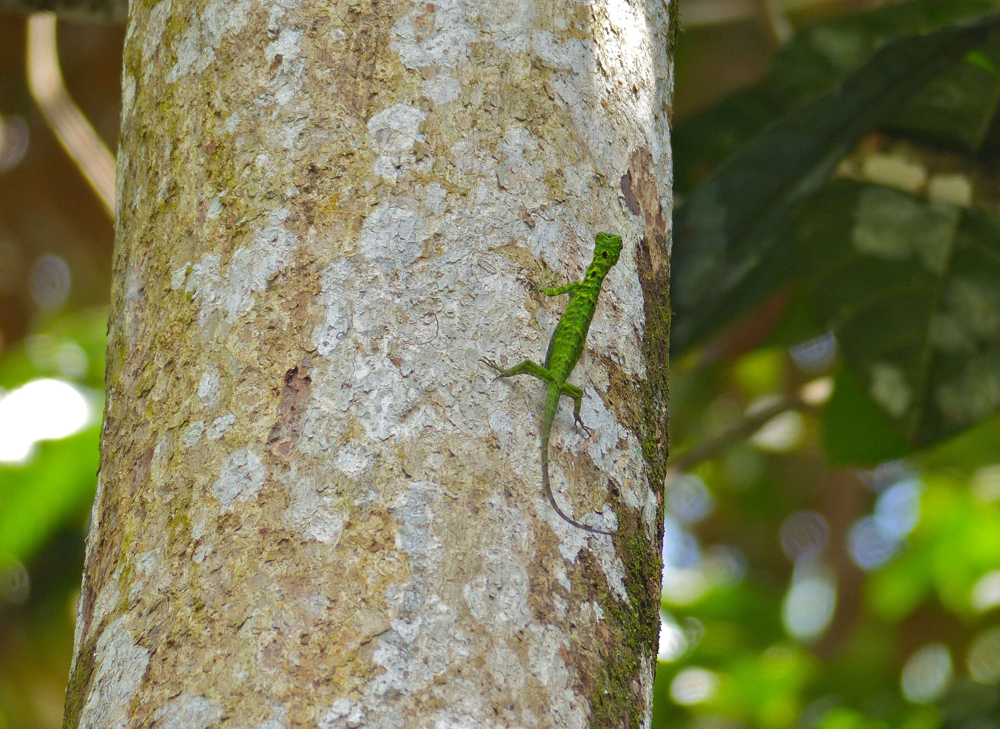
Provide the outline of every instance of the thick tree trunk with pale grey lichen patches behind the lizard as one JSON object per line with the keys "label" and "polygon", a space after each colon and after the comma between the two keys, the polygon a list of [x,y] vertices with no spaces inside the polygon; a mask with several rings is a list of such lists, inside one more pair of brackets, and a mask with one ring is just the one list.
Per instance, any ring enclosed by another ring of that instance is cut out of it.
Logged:
{"label": "thick tree trunk with pale grey lichen patches behind the lizard", "polygon": [[[649,726],[673,18],[132,2],[65,724]],[[625,239],[552,438],[541,360]]]}

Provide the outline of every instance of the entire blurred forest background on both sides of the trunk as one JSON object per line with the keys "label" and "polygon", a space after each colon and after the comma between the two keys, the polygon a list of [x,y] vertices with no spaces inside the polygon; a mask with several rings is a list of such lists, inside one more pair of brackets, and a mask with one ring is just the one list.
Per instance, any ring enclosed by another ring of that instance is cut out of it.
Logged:
{"label": "entire blurred forest background on both sides of the trunk", "polygon": [[[1000,729],[998,10],[681,4],[657,729]],[[23,28],[0,16],[0,728],[61,720],[113,234]],[[112,148],[122,36],[60,25]]]}

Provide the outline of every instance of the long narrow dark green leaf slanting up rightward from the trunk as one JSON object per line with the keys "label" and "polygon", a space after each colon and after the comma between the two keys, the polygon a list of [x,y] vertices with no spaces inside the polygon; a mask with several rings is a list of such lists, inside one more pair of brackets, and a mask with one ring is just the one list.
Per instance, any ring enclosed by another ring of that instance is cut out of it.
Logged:
{"label": "long narrow dark green leaf slanting up rightward from the trunk", "polygon": [[792,271],[795,206],[885,116],[1000,26],[996,14],[893,41],[731,157],[675,216],[671,349],[682,353]]}

